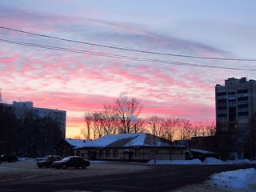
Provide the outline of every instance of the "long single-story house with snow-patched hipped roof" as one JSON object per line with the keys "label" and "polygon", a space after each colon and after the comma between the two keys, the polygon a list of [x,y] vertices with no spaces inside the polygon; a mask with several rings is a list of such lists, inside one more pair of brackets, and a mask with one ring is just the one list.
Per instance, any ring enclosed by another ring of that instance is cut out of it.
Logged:
{"label": "long single-story house with snow-patched hipped roof", "polygon": [[91,160],[148,162],[185,160],[186,147],[153,134],[109,134],[74,147],[74,154]]}

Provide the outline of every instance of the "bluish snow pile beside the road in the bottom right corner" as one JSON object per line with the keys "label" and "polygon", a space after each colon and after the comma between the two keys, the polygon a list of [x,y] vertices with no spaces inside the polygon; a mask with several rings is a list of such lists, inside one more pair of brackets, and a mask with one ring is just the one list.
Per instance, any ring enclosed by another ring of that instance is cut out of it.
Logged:
{"label": "bluish snow pile beside the road in the bottom right corner", "polygon": [[247,170],[234,170],[214,174],[206,183],[234,190],[249,190],[251,187],[250,185],[255,182],[255,178],[256,170],[250,168]]}

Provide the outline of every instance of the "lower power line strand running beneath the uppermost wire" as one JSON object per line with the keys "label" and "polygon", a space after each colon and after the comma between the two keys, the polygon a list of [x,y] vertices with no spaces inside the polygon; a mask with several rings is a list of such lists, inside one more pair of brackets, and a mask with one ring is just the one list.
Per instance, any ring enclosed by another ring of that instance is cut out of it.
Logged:
{"label": "lower power line strand running beneath the uppermost wire", "polygon": [[138,62],[155,62],[155,63],[169,64],[169,65],[176,65],[176,66],[207,67],[207,68],[224,69],[224,70],[256,71],[254,69],[244,69],[244,68],[237,68],[237,67],[207,66],[207,65],[188,63],[188,62],[172,62],[172,61],[159,60],[159,59],[138,58],[138,57],[131,57],[131,56],[120,55],[120,54],[104,54],[104,53],[99,53],[99,52],[94,52],[94,51],[76,50],[76,49],[70,49],[70,48],[64,48],[64,47],[58,47],[58,46],[46,46],[46,45],[40,45],[40,44],[36,44],[36,43],[11,41],[11,40],[1,39],[1,38],[0,38],[0,42],[6,42],[6,43],[20,45],[20,46],[38,47],[38,48],[48,49],[48,50],[61,50],[61,51],[66,51],[66,52],[76,53],[76,54],[90,54],[90,55],[107,57],[107,58],[129,59],[129,60],[138,61]]}

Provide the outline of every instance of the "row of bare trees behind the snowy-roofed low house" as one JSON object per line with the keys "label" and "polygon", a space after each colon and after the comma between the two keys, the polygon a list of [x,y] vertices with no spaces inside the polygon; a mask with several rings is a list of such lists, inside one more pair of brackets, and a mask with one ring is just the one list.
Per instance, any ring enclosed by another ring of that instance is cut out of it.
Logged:
{"label": "row of bare trees behind the snowy-roofed low house", "polygon": [[156,115],[140,117],[142,106],[136,98],[122,93],[112,104],[104,104],[102,110],[86,111],[85,127],[80,134],[86,139],[96,139],[107,134],[130,134],[146,132],[170,141],[212,136],[216,133],[214,122],[192,123],[186,118],[162,118]]}

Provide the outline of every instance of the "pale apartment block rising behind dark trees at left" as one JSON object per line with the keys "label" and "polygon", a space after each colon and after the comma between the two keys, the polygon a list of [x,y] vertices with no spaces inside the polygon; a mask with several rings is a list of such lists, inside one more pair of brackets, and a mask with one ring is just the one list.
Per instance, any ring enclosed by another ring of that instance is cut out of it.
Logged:
{"label": "pale apartment block rising behind dark trees at left", "polygon": [[25,115],[30,112],[36,118],[53,118],[62,129],[62,136],[65,138],[66,134],[66,110],[52,110],[46,108],[34,107],[33,102],[13,102],[13,104],[3,103],[6,109],[14,112],[19,119],[25,118]]}

